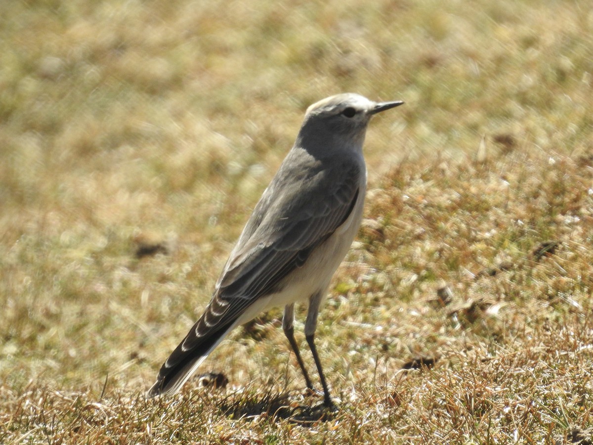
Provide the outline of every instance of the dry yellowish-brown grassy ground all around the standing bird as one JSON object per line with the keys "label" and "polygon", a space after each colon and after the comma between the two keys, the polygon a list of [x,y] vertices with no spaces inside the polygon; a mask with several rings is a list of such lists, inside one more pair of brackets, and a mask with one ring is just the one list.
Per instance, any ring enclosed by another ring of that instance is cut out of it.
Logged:
{"label": "dry yellowish-brown grassy ground all around the standing bird", "polygon": [[[592,443],[588,1],[0,17],[0,443]],[[203,365],[224,389],[145,400],[304,109],[343,91],[406,105],[372,122],[320,317],[339,410],[302,408],[280,311]]]}

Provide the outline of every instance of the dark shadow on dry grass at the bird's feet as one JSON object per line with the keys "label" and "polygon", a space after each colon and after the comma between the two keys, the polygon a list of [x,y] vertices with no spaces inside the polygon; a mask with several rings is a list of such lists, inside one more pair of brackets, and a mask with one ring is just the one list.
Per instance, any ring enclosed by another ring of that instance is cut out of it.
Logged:
{"label": "dark shadow on dry grass at the bird's feet", "polygon": [[266,416],[273,422],[286,420],[307,426],[331,420],[337,412],[335,406],[326,406],[323,402],[311,406],[291,402],[287,393],[229,399],[225,399],[220,408],[224,415],[232,418],[254,420]]}

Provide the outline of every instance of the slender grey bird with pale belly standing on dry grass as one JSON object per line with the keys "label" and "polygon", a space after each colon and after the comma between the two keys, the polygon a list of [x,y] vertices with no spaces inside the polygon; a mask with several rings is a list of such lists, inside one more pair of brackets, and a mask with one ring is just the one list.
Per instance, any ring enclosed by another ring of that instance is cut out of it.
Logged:
{"label": "slender grey bird with pale belly standing on dry grass", "polygon": [[401,104],[343,93],[308,107],[293,147],[253,209],[211,300],[162,364],[148,398],[176,393],[232,329],[273,307],[284,307],[282,329],[307,388],[315,392],[294,335],[295,303],[308,303],[305,339],[323,403],[333,406],[315,347],[317,317],[362,221],[362,145],[369,120]]}

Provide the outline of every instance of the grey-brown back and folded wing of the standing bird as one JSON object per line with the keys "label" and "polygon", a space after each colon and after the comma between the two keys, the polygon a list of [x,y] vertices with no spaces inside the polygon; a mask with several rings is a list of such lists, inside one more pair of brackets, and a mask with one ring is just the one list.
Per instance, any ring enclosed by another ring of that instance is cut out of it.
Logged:
{"label": "grey-brown back and folded wing of the standing bird", "polygon": [[[291,165],[283,166],[287,164]],[[278,171],[196,323],[197,342],[209,331],[234,322],[257,298],[280,291],[286,276],[349,217],[359,199],[361,167],[335,161],[324,167],[312,161],[307,168],[299,167],[307,175],[285,168]],[[193,346],[189,337],[184,343],[184,348]]]}

